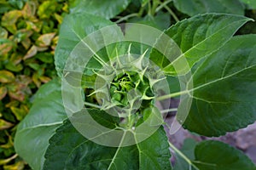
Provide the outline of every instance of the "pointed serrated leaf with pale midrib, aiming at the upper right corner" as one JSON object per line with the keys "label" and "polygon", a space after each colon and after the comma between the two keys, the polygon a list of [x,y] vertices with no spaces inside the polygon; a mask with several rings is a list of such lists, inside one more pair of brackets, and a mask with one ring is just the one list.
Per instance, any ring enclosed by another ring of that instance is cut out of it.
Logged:
{"label": "pointed serrated leaf with pale midrib, aiming at the upper right corner", "polygon": [[[173,65],[183,62],[183,55],[189,66],[195,65],[197,61],[212,54],[225,42],[228,42],[248,20],[250,19],[232,14],[202,14],[189,18],[189,20],[180,21],[165,33],[177,43],[183,54],[173,53],[170,45],[160,41],[156,46],[159,44],[158,46],[163,48],[162,51],[170,54],[169,58],[172,62],[155,49],[151,52],[150,59],[159,65],[166,74],[176,75]],[[165,45],[161,43],[165,43]]]}

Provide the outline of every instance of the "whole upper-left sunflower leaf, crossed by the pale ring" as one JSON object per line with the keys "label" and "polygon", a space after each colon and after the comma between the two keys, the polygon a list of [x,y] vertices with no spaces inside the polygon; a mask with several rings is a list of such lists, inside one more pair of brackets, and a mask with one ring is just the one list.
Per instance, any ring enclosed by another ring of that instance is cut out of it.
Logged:
{"label": "whole upper-left sunflower leaf, crossed by the pale ring", "polygon": [[119,42],[122,36],[119,26],[109,20],[86,13],[67,15],[61,25],[59,42],[55,49],[55,68],[58,75],[62,77],[68,73],[67,79],[82,78],[84,87],[93,88],[93,70],[102,68],[110,56],[115,56],[116,46],[121,44],[114,42]]}

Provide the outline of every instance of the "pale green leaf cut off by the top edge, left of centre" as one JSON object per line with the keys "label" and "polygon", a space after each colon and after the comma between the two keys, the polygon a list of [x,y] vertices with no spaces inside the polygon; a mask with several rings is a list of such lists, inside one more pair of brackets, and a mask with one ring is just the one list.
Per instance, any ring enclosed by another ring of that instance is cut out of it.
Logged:
{"label": "pale green leaf cut off by the top edge, left of centre", "polygon": [[106,19],[111,19],[117,14],[121,13],[131,0],[77,0],[70,8],[71,13],[86,12],[88,14],[95,14]]}

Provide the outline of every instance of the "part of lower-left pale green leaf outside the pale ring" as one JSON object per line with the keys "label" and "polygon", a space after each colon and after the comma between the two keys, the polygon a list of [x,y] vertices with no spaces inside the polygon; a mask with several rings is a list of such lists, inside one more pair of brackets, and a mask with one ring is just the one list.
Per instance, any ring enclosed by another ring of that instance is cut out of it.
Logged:
{"label": "part of lower-left pale green leaf outside the pale ring", "polygon": [[33,169],[42,169],[49,138],[67,118],[61,99],[61,83],[52,81],[40,88],[32,108],[15,134],[15,151]]}

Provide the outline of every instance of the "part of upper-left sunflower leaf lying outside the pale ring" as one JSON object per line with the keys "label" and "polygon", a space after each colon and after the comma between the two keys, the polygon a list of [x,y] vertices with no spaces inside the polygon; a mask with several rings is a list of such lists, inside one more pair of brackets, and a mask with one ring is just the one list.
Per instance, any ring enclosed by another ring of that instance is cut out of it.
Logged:
{"label": "part of upper-left sunflower leaf lying outside the pale ring", "polygon": [[[79,25],[77,24],[79,23]],[[90,14],[69,14],[64,18],[61,25],[58,45],[55,49],[55,66],[59,76],[62,76],[69,54],[84,37],[98,31],[104,26],[113,23]],[[83,52],[83,50],[81,50]],[[90,52],[92,53],[92,52]],[[75,62],[75,61],[74,61]],[[75,65],[75,63],[74,63]],[[98,63],[96,63],[98,65]]]}

